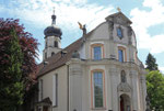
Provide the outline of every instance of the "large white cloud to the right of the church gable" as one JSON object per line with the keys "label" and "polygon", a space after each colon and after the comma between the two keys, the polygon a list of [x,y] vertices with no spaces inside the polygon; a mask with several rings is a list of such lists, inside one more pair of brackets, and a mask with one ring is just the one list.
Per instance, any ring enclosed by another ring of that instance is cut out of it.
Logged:
{"label": "large white cloud to the right of the church gable", "polygon": [[164,52],[164,33],[154,36],[148,33],[149,27],[164,24],[164,5],[162,0],[144,0],[143,7],[150,8],[150,11],[134,8],[130,13],[139,48],[150,49],[154,54],[162,53]]}

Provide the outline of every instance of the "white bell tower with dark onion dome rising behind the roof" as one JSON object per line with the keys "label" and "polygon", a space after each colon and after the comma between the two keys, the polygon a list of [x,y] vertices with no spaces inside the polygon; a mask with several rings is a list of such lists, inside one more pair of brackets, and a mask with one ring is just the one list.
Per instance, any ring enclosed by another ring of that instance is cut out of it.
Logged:
{"label": "white bell tower with dark onion dome rising behind the roof", "polygon": [[61,51],[61,35],[60,27],[56,25],[55,10],[51,15],[51,25],[44,31],[45,34],[45,49],[43,51],[44,60]]}

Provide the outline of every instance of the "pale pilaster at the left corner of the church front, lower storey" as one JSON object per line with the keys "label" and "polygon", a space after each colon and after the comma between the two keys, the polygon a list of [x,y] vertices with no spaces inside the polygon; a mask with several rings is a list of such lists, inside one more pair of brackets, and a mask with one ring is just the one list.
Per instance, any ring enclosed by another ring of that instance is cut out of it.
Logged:
{"label": "pale pilaster at the left corner of the church front, lower storey", "polygon": [[79,58],[69,64],[70,111],[82,111],[82,66]]}

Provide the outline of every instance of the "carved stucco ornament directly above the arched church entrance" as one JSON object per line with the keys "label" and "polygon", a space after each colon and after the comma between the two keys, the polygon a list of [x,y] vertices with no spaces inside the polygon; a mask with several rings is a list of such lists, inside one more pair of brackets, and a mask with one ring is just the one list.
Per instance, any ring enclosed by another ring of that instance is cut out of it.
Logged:
{"label": "carved stucco ornament directly above the arched church entrance", "polygon": [[120,82],[118,85],[118,91],[122,91],[122,92],[130,92],[131,88],[127,82]]}

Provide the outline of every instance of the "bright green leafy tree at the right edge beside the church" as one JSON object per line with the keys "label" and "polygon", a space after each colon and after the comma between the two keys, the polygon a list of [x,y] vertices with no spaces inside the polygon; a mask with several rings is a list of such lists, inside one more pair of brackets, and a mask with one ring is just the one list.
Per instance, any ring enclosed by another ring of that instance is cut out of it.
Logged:
{"label": "bright green leafy tree at the right edge beside the church", "polygon": [[147,75],[147,91],[151,109],[164,111],[164,75],[159,70],[152,70]]}

